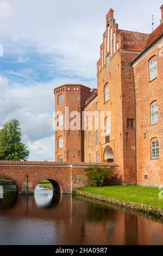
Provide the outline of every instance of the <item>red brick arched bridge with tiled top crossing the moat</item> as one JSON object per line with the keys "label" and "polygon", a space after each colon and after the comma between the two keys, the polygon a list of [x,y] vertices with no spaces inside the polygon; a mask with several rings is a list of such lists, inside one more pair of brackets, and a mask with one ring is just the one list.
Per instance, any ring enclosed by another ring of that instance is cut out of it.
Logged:
{"label": "red brick arched bridge with tiled top crossing the moat", "polygon": [[106,166],[118,176],[116,163],[0,161],[0,179],[12,180],[19,194],[34,194],[41,180],[49,180],[55,192],[70,194],[89,186],[85,169],[90,166]]}

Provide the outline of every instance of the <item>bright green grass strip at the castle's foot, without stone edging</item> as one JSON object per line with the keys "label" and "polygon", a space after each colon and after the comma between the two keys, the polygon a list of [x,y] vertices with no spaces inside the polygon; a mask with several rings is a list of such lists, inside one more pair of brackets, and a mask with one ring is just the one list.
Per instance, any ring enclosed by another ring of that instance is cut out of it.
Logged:
{"label": "bright green grass strip at the castle's foot, without stone edging", "polygon": [[[163,188],[162,188],[163,190]],[[163,208],[163,199],[159,198],[160,190],[157,187],[140,186],[107,186],[107,187],[85,187],[80,191],[111,197],[123,201],[148,204]],[[163,196],[163,193],[162,193]]]}

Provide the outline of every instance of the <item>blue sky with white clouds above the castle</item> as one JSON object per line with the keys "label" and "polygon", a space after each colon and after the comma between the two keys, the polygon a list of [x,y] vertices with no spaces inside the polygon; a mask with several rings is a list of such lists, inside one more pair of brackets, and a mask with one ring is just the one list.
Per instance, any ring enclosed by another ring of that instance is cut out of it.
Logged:
{"label": "blue sky with white clouds above the castle", "polygon": [[0,127],[17,118],[30,160],[54,160],[54,87],[96,88],[96,61],[110,8],[119,28],[151,33],[162,0],[0,0]]}

